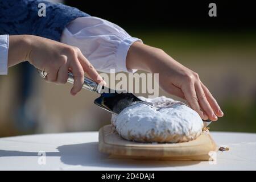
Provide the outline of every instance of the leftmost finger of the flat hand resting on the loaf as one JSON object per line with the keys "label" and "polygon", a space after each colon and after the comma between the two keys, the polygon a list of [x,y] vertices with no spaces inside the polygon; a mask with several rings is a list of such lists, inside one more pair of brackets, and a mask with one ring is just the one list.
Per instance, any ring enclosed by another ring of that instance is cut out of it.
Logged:
{"label": "leftmost finger of the flat hand resting on the loaf", "polygon": [[196,90],[194,83],[187,85],[183,90],[185,99],[188,101],[189,105],[193,110],[195,110],[202,119],[207,120],[208,117],[203,111],[200,109],[199,101],[196,96]]}

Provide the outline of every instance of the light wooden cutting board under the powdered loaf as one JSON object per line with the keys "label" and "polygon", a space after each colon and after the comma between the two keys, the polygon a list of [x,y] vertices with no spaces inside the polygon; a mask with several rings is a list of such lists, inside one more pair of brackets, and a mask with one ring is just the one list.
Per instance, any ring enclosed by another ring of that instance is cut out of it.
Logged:
{"label": "light wooden cutting board under the powdered loaf", "polygon": [[209,152],[217,151],[209,131],[190,142],[155,144],[127,141],[113,131],[112,125],[106,125],[100,129],[98,140],[99,150],[110,154],[111,158],[209,160]]}

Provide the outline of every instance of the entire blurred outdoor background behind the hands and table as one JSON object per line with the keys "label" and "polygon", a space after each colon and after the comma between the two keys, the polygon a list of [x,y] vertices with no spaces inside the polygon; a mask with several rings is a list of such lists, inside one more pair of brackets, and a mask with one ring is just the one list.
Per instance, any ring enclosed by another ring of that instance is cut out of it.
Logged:
{"label": "entire blurred outdoor background behind the hands and table", "polygon": [[[253,1],[61,2],[118,24],[199,73],[225,113],[210,130],[256,132]],[[217,17],[208,15],[210,2],[217,5]],[[110,123],[110,114],[92,104],[96,94],[84,90],[72,97],[70,84],[47,84],[25,64],[0,79],[1,137],[95,131]]]}

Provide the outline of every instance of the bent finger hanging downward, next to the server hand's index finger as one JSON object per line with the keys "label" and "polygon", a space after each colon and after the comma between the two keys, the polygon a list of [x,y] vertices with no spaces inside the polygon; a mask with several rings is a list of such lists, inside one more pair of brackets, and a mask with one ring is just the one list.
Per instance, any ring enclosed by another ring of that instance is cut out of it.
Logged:
{"label": "bent finger hanging downward, next to the server hand's index finger", "polygon": [[74,84],[71,89],[71,94],[75,96],[82,89],[82,85],[84,84],[84,70],[82,69],[77,57],[71,61],[70,68],[74,77]]}

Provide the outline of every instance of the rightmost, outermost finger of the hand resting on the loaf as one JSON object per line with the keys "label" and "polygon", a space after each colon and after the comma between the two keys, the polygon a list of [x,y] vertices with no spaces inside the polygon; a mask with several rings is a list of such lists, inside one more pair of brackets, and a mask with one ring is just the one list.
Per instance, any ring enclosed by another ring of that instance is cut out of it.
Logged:
{"label": "rightmost, outermost finger of the hand resting on the loaf", "polygon": [[220,106],[218,105],[217,101],[215,100],[215,98],[210,93],[209,89],[202,82],[201,82],[201,86],[204,90],[205,96],[207,97],[207,100],[208,100],[210,106],[214,110],[214,113],[217,115],[217,117],[222,117],[224,115],[224,113],[222,112],[222,110],[221,110]]}

